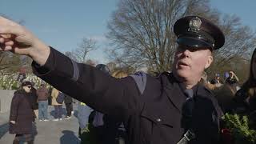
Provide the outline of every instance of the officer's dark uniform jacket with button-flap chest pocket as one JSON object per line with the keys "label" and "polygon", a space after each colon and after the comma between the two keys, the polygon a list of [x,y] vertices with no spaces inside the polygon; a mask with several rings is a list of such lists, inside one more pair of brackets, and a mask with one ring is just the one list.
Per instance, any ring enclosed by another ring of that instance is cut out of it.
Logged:
{"label": "officer's dark uniform jacket with button-flap chest pocket", "polygon": [[[32,63],[34,73],[58,90],[86,102],[94,110],[124,122],[133,144],[174,144],[182,128],[182,106],[186,96],[171,74],[146,75],[143,94],[132,77],[112,78],[92,66],[78,64],[51,48],[44,66]],[[138,75],[139,77],[139,75]],[[190,143],[217,143],[220,109],[213,94],[194,86],[195,106]]]}

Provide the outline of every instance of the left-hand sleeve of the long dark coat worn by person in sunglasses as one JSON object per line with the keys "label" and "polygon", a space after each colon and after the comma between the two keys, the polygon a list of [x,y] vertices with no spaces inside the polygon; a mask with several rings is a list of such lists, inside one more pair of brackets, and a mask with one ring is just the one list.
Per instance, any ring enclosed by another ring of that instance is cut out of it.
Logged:
{"label": "left-hand sleeve of the long dark coat worn by person in sunglasses", "polygon": [[19,101],[20,98],[18,97],[18,95],[14,94],[14,98],[11,100],[10,104],[10,121],[16,121]]}

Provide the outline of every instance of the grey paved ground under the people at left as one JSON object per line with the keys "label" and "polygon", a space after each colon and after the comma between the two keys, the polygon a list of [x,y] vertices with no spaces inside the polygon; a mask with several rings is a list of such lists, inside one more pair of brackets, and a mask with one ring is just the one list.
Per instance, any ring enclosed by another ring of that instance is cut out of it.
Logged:
{"label": "grey paved ground under the people at left", "polygon": [[[66,113],[66,107],[63,106],[64,113]],[[38,122],[36,121],[37,134],[35,135],[35,144],[78,144],[80,143],[78,139],[78,119],[75,117],[77,115],[77,106],[74,106],[74,115],[70,119],[63,119],[62,121],[54,122]],[[54,107],[48,107],[48,114],[50,119],[54,119]],[[8,118],[9,114],[0,114],[0,143],[9,144],[12,143],[14,139],[13,134],[8,132]],[[64,115],[62,116],[64,117]],[[4,122],[3,119],[7,121]]]}

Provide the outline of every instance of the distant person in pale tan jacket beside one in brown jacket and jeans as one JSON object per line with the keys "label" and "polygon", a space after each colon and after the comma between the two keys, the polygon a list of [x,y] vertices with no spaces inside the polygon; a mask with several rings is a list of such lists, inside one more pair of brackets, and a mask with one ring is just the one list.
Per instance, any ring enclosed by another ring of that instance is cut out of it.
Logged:
{"label": "distant person in pale tan jacket beside one in brown jacket and jeans", "polygon": [[62,103],[58,103],[56,101],[58,94],[61,93],[59,90],[54,88],[51,92],[51,105],[54,106],[55,110],[55,119],[53,121],[59,121],[62,120]]}

